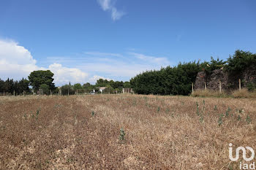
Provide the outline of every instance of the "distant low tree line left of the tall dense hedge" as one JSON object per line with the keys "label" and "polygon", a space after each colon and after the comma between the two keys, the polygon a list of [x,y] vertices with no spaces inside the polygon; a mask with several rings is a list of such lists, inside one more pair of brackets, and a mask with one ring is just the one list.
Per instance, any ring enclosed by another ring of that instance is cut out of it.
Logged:
{"label": "distant low tree line left of the tall dense hedge", "polygon": [[59,88],[53,83],[53,73],[50,70],[47,71],[34,71],[29,74],[29,80],[22,79],[22,80],[1,80],[0,79],[0,93],[3,95],[23,95],[23,94],[31,94],[31,93],[38,93],[38,94],[56,94],[61,93],[63,95],[67,94],[75,94],[75,93],[90,93],[92,90],[95,90],[96,93],[99,90],[99,87],[105,87],[104,93],[121,93],[123,88],[130,88],[129,82],[119,82],[113,80],[103,80],[99,79],[95,83],[95,85],[90,84],[89,82],[84,83],[81,85],[80,83],[76,83],[75,85],[69,84],[62,85]]}

